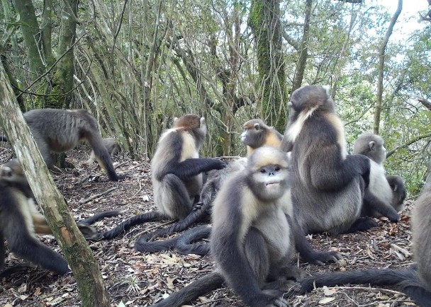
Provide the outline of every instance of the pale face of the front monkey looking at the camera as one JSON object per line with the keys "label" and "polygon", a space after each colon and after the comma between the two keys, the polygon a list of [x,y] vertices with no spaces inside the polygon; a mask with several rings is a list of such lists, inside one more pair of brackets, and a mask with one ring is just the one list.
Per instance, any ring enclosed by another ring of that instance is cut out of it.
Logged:
{"label": "pale face of the front monkey looking at the camera", "polygon": [[276,200],[286,192],[287,178],[286,168],[277,164],[263,166],[252,174],[252,191],[261,200]]}

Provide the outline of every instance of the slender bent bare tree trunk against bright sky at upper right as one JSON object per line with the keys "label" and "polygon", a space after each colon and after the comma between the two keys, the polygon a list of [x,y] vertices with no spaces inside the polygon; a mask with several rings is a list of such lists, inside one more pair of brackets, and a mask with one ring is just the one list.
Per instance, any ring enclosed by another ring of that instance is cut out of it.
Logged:
{"label": "slender bent bare tree trunk against bright sky at upper right", "polygon": [[380,128],[386,45],[388,45],[389,37],[391,37],[393,26],[395,25],[398,19],[398,16],[400,16],[401,9],[403,9],[403,0],[398,0],[398,7],[396,8],[396,12],[393,14],[391,18],[391,23],[389,23],[389,28],[386,31],[386,35],[384,39],[381,41],[381,44],[379,47],[379,79],[377,81],[376,108],[374,109],[374,127],[373,127],[374,134],[379,134],[379,128]]}

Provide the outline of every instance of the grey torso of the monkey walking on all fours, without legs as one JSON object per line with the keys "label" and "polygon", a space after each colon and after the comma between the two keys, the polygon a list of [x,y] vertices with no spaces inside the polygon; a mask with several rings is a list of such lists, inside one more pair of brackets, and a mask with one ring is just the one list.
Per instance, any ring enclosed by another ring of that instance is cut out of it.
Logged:
{"label": "grey torso of the monkey walking on all fours, without legs", "polygon": [[89,137],[86,132],[99,134],[94,117],[84,109],[36,109],[24,113],[30,130],[35,137],[43,138],[50,149],[65,152],[77,146],[82,139]]}

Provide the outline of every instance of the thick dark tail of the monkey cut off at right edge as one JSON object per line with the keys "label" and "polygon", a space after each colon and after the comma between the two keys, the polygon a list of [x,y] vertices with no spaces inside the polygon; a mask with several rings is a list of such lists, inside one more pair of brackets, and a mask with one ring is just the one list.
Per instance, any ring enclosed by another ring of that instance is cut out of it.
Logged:
{"label": "thick dark tail of the monkey cut off at right edge", "polygon": [[415,267],[402,270],[364,270],[351,272],[327,272],[306,277],[300,281],[301,294],[314,286],[336,286],[340,284],[372,284],[374,286],[396,285],[422,307],[431,307],[431,293],[420,282]]}

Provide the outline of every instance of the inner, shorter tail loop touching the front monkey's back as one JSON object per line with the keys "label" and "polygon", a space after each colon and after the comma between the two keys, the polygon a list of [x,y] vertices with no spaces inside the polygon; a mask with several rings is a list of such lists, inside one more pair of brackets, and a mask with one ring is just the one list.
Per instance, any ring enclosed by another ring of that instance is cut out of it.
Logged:
{"label": "inner, shorter tail loop touching the front monkey's back", "polygon": [[195,228],[191,228],[189,231],[182,233],[177,237],[177,245],[175,248],[179,253],[196,254],[196,255],[207,255],[210,253],[210,245],[208,243],[194,243],[203,238],[209,238],[211,234],[210,225],[202,225]]}

